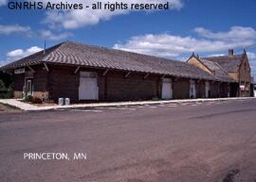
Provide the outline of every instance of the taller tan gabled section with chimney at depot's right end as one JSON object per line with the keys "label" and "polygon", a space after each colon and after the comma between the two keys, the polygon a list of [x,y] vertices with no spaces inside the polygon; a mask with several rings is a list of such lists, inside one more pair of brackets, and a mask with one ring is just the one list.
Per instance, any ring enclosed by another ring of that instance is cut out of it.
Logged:
{"label": "taller tan gabled section with chimney at depot's right end", "polygon": [[228,81],[229,96],[248,97],[251,95],[250,66],[246,51],[242,55],[234,55],[233,50],[229,50],[227,56],[209,58],[192,55],[187,62],[223,81]]}

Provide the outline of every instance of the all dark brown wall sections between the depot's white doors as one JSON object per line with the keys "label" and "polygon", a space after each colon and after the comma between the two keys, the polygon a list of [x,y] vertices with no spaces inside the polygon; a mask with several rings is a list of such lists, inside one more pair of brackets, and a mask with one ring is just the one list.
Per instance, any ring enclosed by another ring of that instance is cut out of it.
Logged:
{"label": "all dark brown wall sections between the depot's white doors", "polygon": [[[60,97],[68,97],[71,102],[79,101],[80,72],[98,73],[98,87],[100,101],[129,101],[129,100],[151,100],[161,98],[162,81],[161,75],[150,74],[144,79],[146,74],[109,71],[102,75],[105,70],[81,68],[78,73],[74,73],[75,66],[48,65],[49,72],[43,65],[35,66],[33,69],[33,84],[36,96],[43,95],[49,99],[57,101]],[[15,91],[22,91],[24,86],[24,74],[14,75]],[[186,99],[190,97],[190,79],[174,78],[173,98]],[[205,97],[205,81],[196,81],[197,98]],[[218,88],[218,82],[210,82],[210,97],[228,96],[228,86]],[[227,84],[226,84],[227,85]]]}

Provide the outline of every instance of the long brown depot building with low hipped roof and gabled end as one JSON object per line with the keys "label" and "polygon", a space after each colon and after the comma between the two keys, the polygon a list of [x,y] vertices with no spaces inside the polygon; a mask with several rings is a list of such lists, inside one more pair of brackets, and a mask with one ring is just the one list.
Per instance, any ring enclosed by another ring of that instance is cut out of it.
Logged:
{"label": "long brown depot building with low hipped roof and gabled end", "polygon": [[188,61],[64,41],[1,68],[12,74],[14,97],[131,101],[250,96],[247,53]]}

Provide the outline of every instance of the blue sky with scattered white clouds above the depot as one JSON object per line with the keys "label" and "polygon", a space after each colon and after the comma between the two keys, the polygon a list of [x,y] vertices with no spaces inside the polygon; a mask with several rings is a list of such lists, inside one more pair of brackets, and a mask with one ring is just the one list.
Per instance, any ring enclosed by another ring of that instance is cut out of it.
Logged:
{"label": "blue sky with scattered white clouds above the depot", "polygon": [[[34,1],[38,0],[30,2]],[[255,0],[101,0],[129,5],[169,2],[168,10],[115,11],[9,9],[9,2],[15,1],[0,0],[0,66],[42,50],[44,41],[46,47],[79,41],[181,61],[192,52],[206,57],[226,55],[229,49],[241,54],[246,49],[256,77]]]}

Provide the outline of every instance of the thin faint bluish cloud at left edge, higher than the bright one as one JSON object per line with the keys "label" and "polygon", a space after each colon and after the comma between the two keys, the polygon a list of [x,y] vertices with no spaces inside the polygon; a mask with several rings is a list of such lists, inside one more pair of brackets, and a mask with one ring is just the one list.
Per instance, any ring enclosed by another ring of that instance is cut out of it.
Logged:
{"label": "thin faint bluish cloud at left edge, higher than the bright one", "polygon": [[0,25],[0,35],[9,35],[14,33],[29,33],[29,26],[21,25]]}

